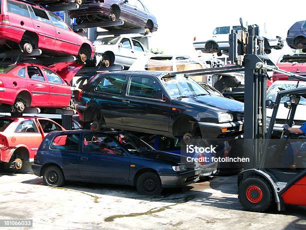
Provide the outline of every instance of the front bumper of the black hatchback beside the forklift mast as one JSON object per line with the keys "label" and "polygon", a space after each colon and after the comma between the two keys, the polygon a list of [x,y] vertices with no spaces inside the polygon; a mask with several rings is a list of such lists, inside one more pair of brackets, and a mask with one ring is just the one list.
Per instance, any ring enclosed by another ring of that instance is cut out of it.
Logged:
{"label": "front bumper of the black hatchback beside the forklift mast", "polygon": [[[243,121],[234,121],[228,123],[208,123],[208,122],[198,122],[197,123],[201,135],[206,139],[214,138],[230,138],[239,139],[243,138]],[[227,129],[222,132],[222,129]]]}

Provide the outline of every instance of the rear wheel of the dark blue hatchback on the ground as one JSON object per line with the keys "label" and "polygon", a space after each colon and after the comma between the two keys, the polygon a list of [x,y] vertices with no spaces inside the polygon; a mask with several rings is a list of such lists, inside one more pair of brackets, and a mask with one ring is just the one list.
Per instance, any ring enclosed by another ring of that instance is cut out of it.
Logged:
{"label": "rear wheel of the dark blue hatchback on the ground", "polygon": [[61,169],[57,166],[49,166],[43,170],[43,183],[51,187],[64,185],[65,178]]}

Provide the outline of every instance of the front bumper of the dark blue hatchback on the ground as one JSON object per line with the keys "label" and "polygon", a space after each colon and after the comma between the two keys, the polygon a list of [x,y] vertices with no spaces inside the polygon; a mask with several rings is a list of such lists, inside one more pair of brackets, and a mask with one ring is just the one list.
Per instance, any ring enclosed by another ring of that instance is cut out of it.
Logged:
{"label": "front bumper of the dark blue hatchback on the ground", "polygon": [[181,172],[177,174],[159,173],[159,177],[163,188],[181,187],[198,181],[200,173],[201,169],[197,168],[192,171]]}

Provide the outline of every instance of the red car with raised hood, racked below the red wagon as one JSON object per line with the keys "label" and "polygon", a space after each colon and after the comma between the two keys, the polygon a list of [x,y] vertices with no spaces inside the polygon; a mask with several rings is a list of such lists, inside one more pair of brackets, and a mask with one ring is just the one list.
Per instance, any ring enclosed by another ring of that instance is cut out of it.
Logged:
{"label": "red car with raised hood, racked below the red wagon", "polygon": [[81,67],[77,63],[59,63],[50,68],[0,64],[0,106],[9,106],[14,112],[23,112],[25,107],[67,108],[71,100],[69,82]]}

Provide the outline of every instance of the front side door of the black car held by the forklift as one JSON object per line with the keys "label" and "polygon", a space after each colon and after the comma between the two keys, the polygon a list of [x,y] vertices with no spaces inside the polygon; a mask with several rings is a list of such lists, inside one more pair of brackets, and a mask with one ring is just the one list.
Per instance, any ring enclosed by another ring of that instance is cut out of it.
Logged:
{"label": "front side door of the black car held by the forklift", "polygon": [[170,100],[157,82],[153,77],[129,77],[122,108],[124,125],[169,131]]}

